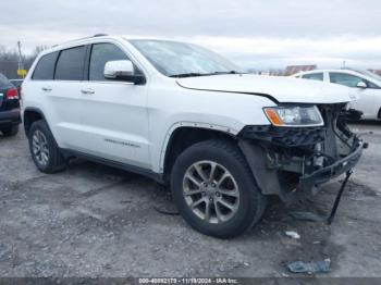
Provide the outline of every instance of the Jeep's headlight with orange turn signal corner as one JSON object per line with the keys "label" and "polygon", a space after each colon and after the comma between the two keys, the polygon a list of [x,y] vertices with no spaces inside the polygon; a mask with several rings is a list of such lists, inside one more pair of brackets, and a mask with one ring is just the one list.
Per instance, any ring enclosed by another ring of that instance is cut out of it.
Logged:
{"label": "Jeep's headlight with orange turn signal corner", "polygon": [[274,126],[322,126],[324,121],[316,106],[280,106],[265,108]]}

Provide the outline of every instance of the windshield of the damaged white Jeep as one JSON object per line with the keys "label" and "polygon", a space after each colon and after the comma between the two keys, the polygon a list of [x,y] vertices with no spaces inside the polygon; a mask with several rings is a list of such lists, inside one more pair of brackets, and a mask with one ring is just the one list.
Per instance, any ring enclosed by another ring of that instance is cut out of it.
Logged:
{"label": "windshield of the damaged white Jeep", "polygon": [[242,70],[205,48],[167,40],[130,40],[162,74],[171,77],[242,73]]}

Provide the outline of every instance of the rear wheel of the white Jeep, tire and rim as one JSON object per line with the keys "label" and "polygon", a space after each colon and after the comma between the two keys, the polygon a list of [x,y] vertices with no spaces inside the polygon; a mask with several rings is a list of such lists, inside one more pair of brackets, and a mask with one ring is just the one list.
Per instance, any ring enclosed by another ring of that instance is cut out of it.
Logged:
{"label": "rear wheel of the white Jeep, tire and rim", "polygon": [[66,162],[45,121],[32,124],[28,138],[33,161],[39,171],[54,173],[65,168]]}

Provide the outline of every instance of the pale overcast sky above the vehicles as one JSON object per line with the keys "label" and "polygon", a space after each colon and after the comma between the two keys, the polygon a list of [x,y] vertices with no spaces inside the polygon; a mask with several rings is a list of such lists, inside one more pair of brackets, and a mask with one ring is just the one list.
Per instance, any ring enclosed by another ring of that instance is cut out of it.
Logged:
{"label": "pale overcast sky above the vehicles", "polygon": [[2,1],[0,46],[23,52],[99,33],[184,40],[257,70],[381,69],[380,0]]}

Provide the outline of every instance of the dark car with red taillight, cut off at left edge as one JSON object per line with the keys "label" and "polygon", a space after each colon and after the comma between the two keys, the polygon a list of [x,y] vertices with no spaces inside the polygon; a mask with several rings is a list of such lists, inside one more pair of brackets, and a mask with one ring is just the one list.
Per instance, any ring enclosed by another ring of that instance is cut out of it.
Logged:
{"label": "dark car with red taillight, cut off at left edge", "polygon": [[21,123],[17,89],[0,73],[0,132],[15,136]]}

